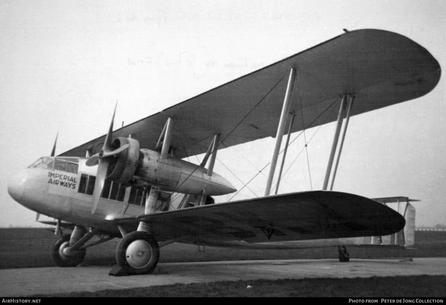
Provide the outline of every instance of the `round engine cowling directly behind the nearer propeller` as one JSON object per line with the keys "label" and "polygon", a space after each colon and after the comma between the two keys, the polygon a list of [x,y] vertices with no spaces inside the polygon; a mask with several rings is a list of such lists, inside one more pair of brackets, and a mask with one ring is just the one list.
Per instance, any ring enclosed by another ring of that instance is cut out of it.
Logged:
{"label": "round engine cowling directly behind the nearer propeller", "polygon": [[138,140],[118,137],[111,143],[111,148],[116,149],[129,144],[124,150],[110,161],[107,169],[107,178],[120,183],[128,183],[136,171],[140,159],[140,145]]}

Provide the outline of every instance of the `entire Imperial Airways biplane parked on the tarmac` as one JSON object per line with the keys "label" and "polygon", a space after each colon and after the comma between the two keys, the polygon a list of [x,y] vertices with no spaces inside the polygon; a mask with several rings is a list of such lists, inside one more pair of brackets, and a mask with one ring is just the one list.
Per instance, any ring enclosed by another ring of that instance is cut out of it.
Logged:
{"label": "entire Imperial Airways biplane parked on the tarmac", "polygon": [[[173,242],[338,247],[341,261],[348,261],[346,246],[364,243],[363,237],[377,245],[384,239],[376,237],[393,235],[392,244],[407,246],[410,232],[405,240],[403,229],[414,217],[409,200],[401,215],[376,200],[331,191],[331,171],[344,119],[343,136],[350,116],[433,90],[441,69],[400,34],[345,32],[115,131],[113,114],[106,135],[41,157],[12,178],[8,192],[55,218],[56,232],[71,227],[52,250],[62,267],[80,264],[87,247],[116,237],[122,238],[116,262],[128,274],[153,272],[159,248]],[[271,195],[282,136],[334,121],[322,190]],[[235,192],[213,170],[218,150],[265,137],[276,137],[276,145],[264,197],[214,204],[212,196]],[[183,160],[199,154],[205,156],[199,165]]]}

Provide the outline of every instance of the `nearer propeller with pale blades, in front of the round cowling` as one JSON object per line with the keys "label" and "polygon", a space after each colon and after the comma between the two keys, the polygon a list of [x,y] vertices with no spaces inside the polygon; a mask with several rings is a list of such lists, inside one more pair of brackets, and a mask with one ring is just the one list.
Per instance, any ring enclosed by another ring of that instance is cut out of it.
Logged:
{"label": "nearer propeller with pale blades, in front of the round cowling", "polygon": [[95,181],[95,190],[93,191],[93,205],[91,207],[91,214],[95,214],[96,207],[98,206],[99,198],[102,194],[102,189],[104,187],[105,178],[107,176],[107,169],[111,158],[113,158],[120,152],[123,152],[129,146],[128,144],[125,144],[115,150],[111,148],[111,133],[113,132],[113,121],[115,120],[117,105],[118,102],[116,102],[115,111],[113,112],[113,116],[111,118],[110,128],[108,128],[108,133],[107,136],[105,137],[105,141],[101,151],[91,156],[85,163],[87,166],[98,165],[98,171],[96,173],[96,181]]}

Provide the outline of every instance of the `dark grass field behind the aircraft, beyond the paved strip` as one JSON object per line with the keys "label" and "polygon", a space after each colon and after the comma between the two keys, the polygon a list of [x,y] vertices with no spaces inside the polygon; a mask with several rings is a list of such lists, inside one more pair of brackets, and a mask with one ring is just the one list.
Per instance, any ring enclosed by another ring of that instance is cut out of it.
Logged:
{"label": "dark grass field behind the aircraft, beyond the paved strip", "polygon": [[[47,229],[0,229],[0,268],[28,268],[54,266],[50,249],[56,240]],[[83,265],[115,264],[118,239],[87,249]],[[417,250],[349,247],[352,258],[382,257],[446,257],[446,232],[416,231]],[[161,248],[160,263],[217,260],[272,260],[272,259],[337,259],[336,248],[301,250],[240,250],[206,247],[198,252],[197,246],[173,243]]]}

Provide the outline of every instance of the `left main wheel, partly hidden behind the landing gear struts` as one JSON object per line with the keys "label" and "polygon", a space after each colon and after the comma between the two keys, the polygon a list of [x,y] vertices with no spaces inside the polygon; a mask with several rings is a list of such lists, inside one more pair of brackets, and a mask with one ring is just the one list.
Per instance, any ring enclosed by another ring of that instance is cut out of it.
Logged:
{"label": "left main wheel, partly hidden behind the landing gear struts", "polygon": [[70,234],[64,234],[56,240],[51,249],[51,257],[56,265],[60,267],[76,267],[82,263],[87,253],[86,249],[75,250],[67,253],[64,249],[70,247]]}

